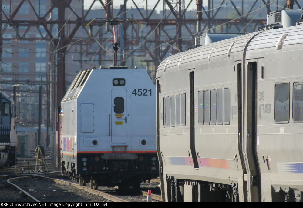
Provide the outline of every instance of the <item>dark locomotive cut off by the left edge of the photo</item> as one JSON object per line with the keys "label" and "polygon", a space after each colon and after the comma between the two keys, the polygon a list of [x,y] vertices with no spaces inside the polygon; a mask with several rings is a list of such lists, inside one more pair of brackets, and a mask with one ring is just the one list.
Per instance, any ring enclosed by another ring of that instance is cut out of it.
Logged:
{"label": "dark locomotive cut off by the left edge of the photo", "polygon": [[0,168],[16,164],[16,108],[14,101],[0,92]]}

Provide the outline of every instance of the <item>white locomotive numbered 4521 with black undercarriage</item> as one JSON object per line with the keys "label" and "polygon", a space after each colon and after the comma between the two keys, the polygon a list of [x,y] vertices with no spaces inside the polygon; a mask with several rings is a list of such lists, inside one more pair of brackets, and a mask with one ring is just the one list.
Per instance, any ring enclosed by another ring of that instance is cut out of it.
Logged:
{"label": "white locomotive numbered 4521 with black undercarriage", "polygon": [[80,185],[133,186],[159,175],[156,90],[145,69],[114,66],[76,76],[59,114],[62,174]]}

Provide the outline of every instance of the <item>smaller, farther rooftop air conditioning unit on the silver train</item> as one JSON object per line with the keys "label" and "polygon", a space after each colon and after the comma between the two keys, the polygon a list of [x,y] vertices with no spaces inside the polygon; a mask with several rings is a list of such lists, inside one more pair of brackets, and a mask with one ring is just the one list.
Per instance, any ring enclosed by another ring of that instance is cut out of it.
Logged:
{"label": "smaller, farther rooftop air conditioning unit on the silver train", "polygon": [[220,40],[226,40],[244,35],[243,33],[205,33],[200,37],[196,37],[195,46],[207,45]]}

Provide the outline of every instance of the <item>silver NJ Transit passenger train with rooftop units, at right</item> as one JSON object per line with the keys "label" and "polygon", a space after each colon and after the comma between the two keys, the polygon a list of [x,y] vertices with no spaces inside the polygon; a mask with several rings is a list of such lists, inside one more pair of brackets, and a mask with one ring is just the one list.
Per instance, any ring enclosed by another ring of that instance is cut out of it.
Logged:
{"label": "silver NJ Transit passenger train with rooftop units, at right", "polygon": [[258,32],[206,34],[160,63],[163,201],[302,200],[302,23],[275,11]]}

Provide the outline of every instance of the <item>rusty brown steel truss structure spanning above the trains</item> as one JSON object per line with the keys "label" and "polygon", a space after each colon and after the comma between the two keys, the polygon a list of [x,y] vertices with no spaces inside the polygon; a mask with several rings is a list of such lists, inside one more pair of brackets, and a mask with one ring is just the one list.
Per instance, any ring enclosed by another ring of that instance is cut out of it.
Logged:
{"label": "rusty brown steel truss structure spanning above the trains", "polygon": [[[12,0],[8,1],[10,5],[14,2]],[[148,0],[143,1],[146,1],[147,8]],[[278,8],[278,1],[280,4],[281,2],[285,2],[285,5],[280,7],[293,9],[295,5],[295,7],[301,8],[297,0],[276,0],[274,2],[270,0],[251,0],[251,2],[254,2],[253,5],[247,13],[244,13],[244,0],[240,1],[240,3],[237,1],[237,5],[235,4],[236,0],[221,0],[221,5],[217,8],[213,6],[214,0],[207,0],[204,1],[204,3],[207,3],[207,9],[204,8],[202,0],[158,0],[152,10],[146,9],[146,14],[143,14],[144,12],[142,13],[142,9],[139,8],[135,0],[124,0],[118,14],[113,15],[112,0],[93,0],[87,10],[84,7],[84,0],[51,0],[52,5],[50,9],[46,11],[44,16],[41,16],[40,0],[38,10],[32,5],[30,0],[20,0],[15,8],[10,8],[9,14],[6,14],[2,9],[0,13],[0,21],[2,22],[2,24],[0,24],[0,35],[2,37],[8,25],[10,25],[16,32],[16,38],[13,38],[14,40],[49,41],[52,70],[48,81],[45,83],[51,85],[48,86],[47,90],[52,89],[52,105],[50,108],[53,109],[53,106],[60,106],[60,101],[66,92],[66,53],[71,52],[72,49],[77,47],[80,48],[79,51],[75,49],[74,52],[80,53],[79,62],[81,69],[83,62],[86,61],[83,59],[83,54],[92,57],[98,55],[97,60],[89,59],[87,61],[96,61],[99,65],[104,61],[109,61],[103,58],[112,51],[111,44],[113,41],[108,39],[108,37],[104,37],[103,29],[111,33],[113,32],[108,25],[117,21],[117,17],[127,17],[127,12],[130,10],[130,8],[127,8],[127,4],[133,5],[131,9],[136,9],[141,19],[135,20],[130,18],[127,22],[120,23],[120,33],[118,33],[120,34],[121,45],[120,65],[126,65],[130,59],[132,60],[131,65],[133,65],[133,57],[146,57],[146,55],[149,55],[150,59],[147,57],[147,59],[142,60],[142,62],[146,62],[147,64],[151,62],[154,70],[157,70],[159,63],[169,54],[180,52],[187,48],[188,45],[194,45],[194,38],[202,32],[228,32],[231,27],[235,27],[239,32],[247,32],[246,26],[248,24],[254,24],[254,30],[256,30],[258,26],[266,24],[266,20],[250,19],[249,14],[256,11],[259,6],[260,8],[266,7],[267,13],[269,13],[271,12],[271,7],[273,7],[271,5],[275,5],[275,2],[277,2],[276,5]],[[0,8],[2,8],[2,2],[3,1],[0,1]],[[35,20],[16,18],[24,2],[29,3],[35,15]],[[73,9],[72,5],[78,3],[80,7]],[[89,18],[89,12],[91,12],[97,3],[100,3],[102,9],[106,11],[103,19]],[[163,5],[163,17],[153,18],[157,6],[161,4]],[[197,8],[196,18],[186,18],[188,8],[193,4],[195,4]],[[220,11],[227,6],[234,9],[237,18],[217,18]],[[57,19],[49,18],[51,13],[54,12],[54,9],[58,11]],[[58,31],[53,30],[55,25]],[[142,25],[146,28],[144,35],[140,34]],[[22,35],[19,34],[19,27],[26,27]],[[39,31],[41,37],[30,38],[26,36],[32,27]],[[46,35],[41,31],[41,27],[45,30]],[[167,32],[167,28],[171,30],[172,27],[173,31],[175,31],[173,36]],[[80,31],[84,31],[86,35],[81,37],[81,35],[79,35],[81,34]],[[12,38],[1,39],[0,57],[2,55],[2,41],[11,39]],[[92,50],[93,45],[98,45],[99,49],[97,51]],[[152,72],[151,77],[154,78],[154,76],[155,71]],[[54,82],[56,82],[56,86]],[[55,89],[56,97],[53,93]]]}

